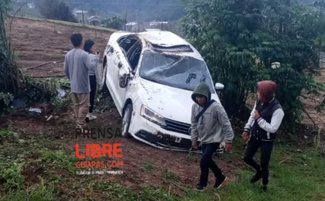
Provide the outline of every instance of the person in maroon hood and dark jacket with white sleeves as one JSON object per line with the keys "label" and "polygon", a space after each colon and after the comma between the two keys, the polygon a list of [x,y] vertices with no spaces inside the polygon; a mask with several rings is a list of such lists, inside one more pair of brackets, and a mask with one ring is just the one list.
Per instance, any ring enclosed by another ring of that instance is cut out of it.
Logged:
{"label": "person in maroon hood and dark jacket with white sleeves", "polygon": [[[257,85],[258,100],[255,102],[255,107],[243,133],[244,140],[249,140],[244,161],[256,170],[251,182],[255,183],[262,178],[261,190],[266,192],[273,144],[285,114],[279,101],[275,98],[276,83],[262,81]],[[261,149],[260,165],[253,159],[258,148]]]}

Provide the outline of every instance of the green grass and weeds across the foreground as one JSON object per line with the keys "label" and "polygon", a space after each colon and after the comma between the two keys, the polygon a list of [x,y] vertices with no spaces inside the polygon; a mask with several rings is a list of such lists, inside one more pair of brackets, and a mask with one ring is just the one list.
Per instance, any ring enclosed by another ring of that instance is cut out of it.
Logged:
{"label": "green grass and weeds across the foreground", "polygon": [[[200,193],[182,186],[185,193],[173,185],[180,184],[181,179],[169,169],[162,170],[161,179],[170,188],[140,184],[144,186],[135,190],[100,176],[76,177],[73,153],[62,142],[51,140],[52,135],[52,132],[40,133],[22,144],[10,128],[1,130],[0,201],[325,201],[325,163],[315,147],[297,153],[295,147],[277,144],[271,159],[268,193],[259,192],[261,183],[249,183],[254,173],[249,167],[238,169],[235,180],[222,189],[213,189],[210,184],[207,191]],[[222,159],[240,160],[241,148],[237,142],[234,153],[221,155]],[[33,154],[37,157],[26,158]],[[46,173],[37,175],[40,177],[36,183],[27,185],[22,172],[33,167],[43,168]],[[144,163],[142,169],[159,171],[150,162]],[[58,172],[66,172],[66,176]],[[181,197],[175,194],[180,192]]]}

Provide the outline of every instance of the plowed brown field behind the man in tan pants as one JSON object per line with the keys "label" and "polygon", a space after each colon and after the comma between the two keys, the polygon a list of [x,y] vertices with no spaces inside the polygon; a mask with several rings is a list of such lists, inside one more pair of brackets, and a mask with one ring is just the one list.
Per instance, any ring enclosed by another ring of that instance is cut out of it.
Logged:
{"label": "plowed brown field behind the man in tan pants", "polygon": [[[11,18],[8,18],[7,23],[10,21]],[[11,27],[11,39],[12,49],[18,57],[17,65],[24,69],[46,62],[63,61],[66,53],[73,48],[70,41],[72,33],[81,33],[84,40],[94,40],[102,56],[111,34],[105,30],[15,18]],[[63,63],[50,63],[25,73],[31,76],[64,75]]]}

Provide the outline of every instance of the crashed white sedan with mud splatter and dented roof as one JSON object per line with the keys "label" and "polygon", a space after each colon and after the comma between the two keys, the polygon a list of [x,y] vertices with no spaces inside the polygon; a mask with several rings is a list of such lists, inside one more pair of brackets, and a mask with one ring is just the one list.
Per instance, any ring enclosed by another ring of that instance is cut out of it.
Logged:
{"label": "crashed white sedan with mud splatter and dented roof", "polygon": [[198,51],[169,31],[114,32],[103,67],[102,86],[122,116],[122,136],[158,148],[190,150],[191,94],[200,82],[220,102],[215,88],[223,85],[214,87]]}

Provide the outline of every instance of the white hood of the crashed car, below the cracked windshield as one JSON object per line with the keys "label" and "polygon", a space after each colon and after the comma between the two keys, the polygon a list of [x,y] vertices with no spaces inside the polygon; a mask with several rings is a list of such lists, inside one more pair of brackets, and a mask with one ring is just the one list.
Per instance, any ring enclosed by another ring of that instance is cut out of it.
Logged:
{"label": "white hood of the crashed car, below the cracked windshield", "polygon": [[[191,123],[191,109],[194,104],[191,90],[161,85],[140,79],[139,90],[143,103],[159,115],[183,123]],[[217,101],[217,95],[211,95]]]}

